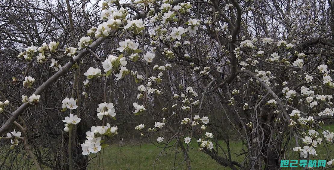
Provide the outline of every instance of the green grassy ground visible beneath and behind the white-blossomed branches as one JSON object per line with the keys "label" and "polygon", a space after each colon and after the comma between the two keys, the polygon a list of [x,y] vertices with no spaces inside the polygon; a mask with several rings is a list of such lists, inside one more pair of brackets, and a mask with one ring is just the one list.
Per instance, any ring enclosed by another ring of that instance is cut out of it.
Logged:
{"label": "green grassy ground visible beneath and behind the white-blossomed branches", "polygon": [[[334,131],[334,125],[324,126],[324,129]],[[168,169],[185,169],[186,165],[183,162],[183,153],[179,152],[175,157],[175,149],[168,150],[159,148],[164,145],[160,144],[141,144],[141,145],[125,145],[118,146],[112,145],[104,150],[104,167],[105,169],[113,170],[133,170],[133,169],[156,169],[156,170],[168,170]],[[196,141],[190,143],[189,157],[191,159],[192,169],[211,170],[211,169],[230,169],[224,168],[217,164],[207,154],[198,151]],[[226,148],[226,144],[221,142],[221,146]],[[232,159],[238,162],[244,160],[244,156],[237,156],[242,150],[242,143],[230,143]],[[326,150],[329,150],[329,155]],[[334,146],[327,145],[327,149],[321,145],[318,146],[317,151],[319,158],[332,158],[334,157]],[[222,155],[223,153],[220,153]],[[289,152],[288,157],[290,160],[298,159],[298,153]],[[95,158],[96,163],[98,160]],[[101,162],[102,164],[102,162]],[[99,169],[95,164],[90,164],[91,170]]]}

